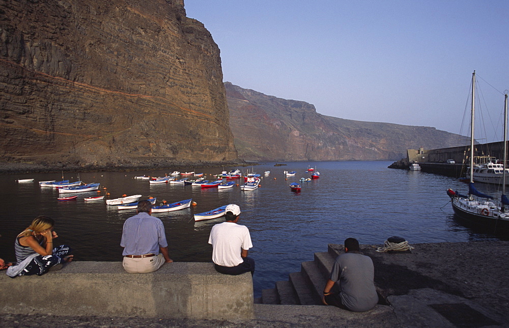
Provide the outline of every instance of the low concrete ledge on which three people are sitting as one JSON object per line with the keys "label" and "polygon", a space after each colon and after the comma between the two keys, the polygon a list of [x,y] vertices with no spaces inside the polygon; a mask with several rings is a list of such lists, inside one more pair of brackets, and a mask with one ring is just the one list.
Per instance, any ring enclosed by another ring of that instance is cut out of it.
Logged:
{"label": "low concrete ledge on which three people are sitting", "polygon": [[252,319],[249,273],[217,273],[213,263],[165,263],[129,274],[122,262],[71,262],[41,277],[0,274],[0,312],[118,317]]}

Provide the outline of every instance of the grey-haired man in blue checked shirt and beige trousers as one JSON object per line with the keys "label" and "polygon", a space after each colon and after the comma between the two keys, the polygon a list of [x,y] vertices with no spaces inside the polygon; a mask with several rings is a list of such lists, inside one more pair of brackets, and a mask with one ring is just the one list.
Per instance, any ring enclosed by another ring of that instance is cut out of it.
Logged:
{"label": "grey-haired man in blue checked shirt and beige trousers", "polygon": [[164,226],[161,220],[151,216],[150,201],[138,202],[136,212],[124,222],[120,242],[120,246],[124,247],[122,265],[129,273],[149,273],[173,260],[168,256]]}

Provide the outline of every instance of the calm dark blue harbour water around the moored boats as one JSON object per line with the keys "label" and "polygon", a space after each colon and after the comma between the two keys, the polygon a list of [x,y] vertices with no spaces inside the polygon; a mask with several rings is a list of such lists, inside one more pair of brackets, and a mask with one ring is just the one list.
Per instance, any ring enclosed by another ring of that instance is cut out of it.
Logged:
{"label": "calm dark blue harbour water around the moored boats", "polygon": [[[201,190],[192,186],[150,185],[147,180],[133,178],[169,173],[162,170],[88,172],[80,173],[79,178],[86,183],[101,183],[101,189],[106,187],[110,193],[109,198],[142,194],[168,203],[192,198],[197,203],[195,207],[154,214],[164,223],[169,254],[175,261],[211,261],[208,236],[212,226],[223,219],[195,223],[194,213],[229,203],[240,205],[239,223],[249,228],[254,246],[249,256],[257,265],[256,296],[261,295],[264,288],[273,288],[276,281],[288,280],[289,273],[300,271],[301,262],[313,260],[313,254],[326,251],[327,244],[343,244],[347,237],[356,237],[361,244],[383,244],[393,235],[404,237],[410,244],[498,239],[457,221],[445,194],[447,188],[466,192],[466,186],[455,178],[388,169],[391,162],[385,161],[286,164],[249,167],[262,176],[265,170],[271,173],[263,177],[260,189],[246,192],[237,186]],[[308,166],[317,167],[320,179],[301,183],[301,193],[291,192],[288,186],[291,182],[310,175],[306,172]],[[235,167],[224,167],[224,170],[232,168]],[[221,170],[223,168],[197,169],[208,174],[207,178]],[[295,170],[297,174],[285,180],[285,170]],[[64,177],[77,180],[76,173],[65,173]],[[16,182],[21,178],[35,178],[35,182]],[[135,211],[118,211],[117,206],[108,206],[104,201],[83,201],[84,197],[95,196],[97,192],[78,193],[77,200],[59,202],[56,190],[39,187],[38,181],[47,180],[60,181],[62,174],[0,176],[3,200],[0,257],[14,260],[15,236],[36,216],[46,215],[56,220],[57,241],[73,247],[76,260],[121,261],[122,225]],[[238,180],[238,183],[242,182]]]}

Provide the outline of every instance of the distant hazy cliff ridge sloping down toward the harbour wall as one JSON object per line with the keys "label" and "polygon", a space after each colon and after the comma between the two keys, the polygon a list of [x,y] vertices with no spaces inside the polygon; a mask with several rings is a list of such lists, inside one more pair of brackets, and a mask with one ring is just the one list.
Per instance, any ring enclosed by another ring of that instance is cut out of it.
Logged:
{"label": "distant hazy cliff ridge sloping down toward the harbour wall", "polygon": [[430,127],[325,116],[302,101],[225,86],[230,127],[245,160],[399,160],[407,149],[457,146],[460,137]]}

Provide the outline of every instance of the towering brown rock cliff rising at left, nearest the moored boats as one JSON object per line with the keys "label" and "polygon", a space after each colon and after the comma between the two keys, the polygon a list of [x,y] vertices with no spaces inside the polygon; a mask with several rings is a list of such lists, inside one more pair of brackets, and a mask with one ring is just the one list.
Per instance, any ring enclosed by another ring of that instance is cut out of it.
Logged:
{"label": "towering brown rock cliff rising at left, nearest the moored boats", "polygon": [[236,159],[219,49],[185,15],[183,0],[4,1],[4,160]]}

